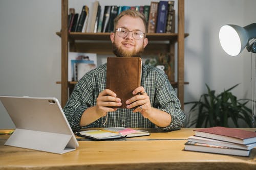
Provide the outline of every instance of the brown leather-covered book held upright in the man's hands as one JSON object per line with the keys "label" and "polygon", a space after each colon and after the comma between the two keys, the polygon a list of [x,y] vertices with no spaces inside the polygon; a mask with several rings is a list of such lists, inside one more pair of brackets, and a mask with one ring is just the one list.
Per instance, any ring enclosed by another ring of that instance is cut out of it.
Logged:
{"label": "brown leather-covered book held upright in the man's hands", "polygon": [[133,90],[140,86],[141,58],[108,57],[106,64],[106,88],[114,91],[126,108],[125,101],[131,99]]}

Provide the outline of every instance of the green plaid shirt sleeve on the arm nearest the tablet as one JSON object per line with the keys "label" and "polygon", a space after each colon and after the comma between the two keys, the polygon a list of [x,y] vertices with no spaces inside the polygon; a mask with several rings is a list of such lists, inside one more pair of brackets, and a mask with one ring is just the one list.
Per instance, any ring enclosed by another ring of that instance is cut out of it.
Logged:
{"label": "green plaid shirt sleeve on the arm nearest the tablet", "polygon": [[76,84],[66,106],[63,108],[72,130],[80,129],[83,112],[93,106],[93,87],[92,82],[89,82],[92,79],[89,77],[88,75],[84,76]]}

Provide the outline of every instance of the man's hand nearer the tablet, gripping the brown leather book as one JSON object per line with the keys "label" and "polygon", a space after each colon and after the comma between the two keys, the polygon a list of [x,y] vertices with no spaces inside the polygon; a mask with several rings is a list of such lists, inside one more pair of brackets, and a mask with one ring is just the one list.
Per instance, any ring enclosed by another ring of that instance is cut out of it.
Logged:
{"label": "man's hand nearer the tablet, gripping the brown leather book", "polygon": [[108,112],[116,111],[117,108],[112,108],[115,106],[121,106],[121,99],[116,97],[116,93],[109,89],[101,91],[97,98],[96,112],[103,117]]}

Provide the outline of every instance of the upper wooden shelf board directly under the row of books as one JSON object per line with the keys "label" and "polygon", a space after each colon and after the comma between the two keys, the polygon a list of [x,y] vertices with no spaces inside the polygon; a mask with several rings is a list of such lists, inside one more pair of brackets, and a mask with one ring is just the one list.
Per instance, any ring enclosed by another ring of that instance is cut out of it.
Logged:
{"label": "upper wooden shelf board directly under the row of books", "polygon": [[[56,34],[61,37],[61,32]],[[110,34],[71,32],[68,34],[69,50],[70,52],[78,53],[113,54]],[[184,37],[187,36],[187,33],[184,34]],[[157,55],[159,52],[169,53],[170,44],[178,41],[177,33],[150,33],[146,37],[149,42],[144,49],[143,55]]]}

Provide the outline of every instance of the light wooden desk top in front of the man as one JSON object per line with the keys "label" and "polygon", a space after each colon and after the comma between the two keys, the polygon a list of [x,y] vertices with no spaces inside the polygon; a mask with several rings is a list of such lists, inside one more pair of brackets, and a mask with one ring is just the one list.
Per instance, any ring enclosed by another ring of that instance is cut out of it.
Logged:
{"label": "light wooden desk top in front of the man", "polygon": [[76,151],[63,155],[5,146],[0,139],[0,169],[256,169],[256,148],[250,157],[184,151],[193,134],[193,129],[181,129],[127,140],[79,141]]}

